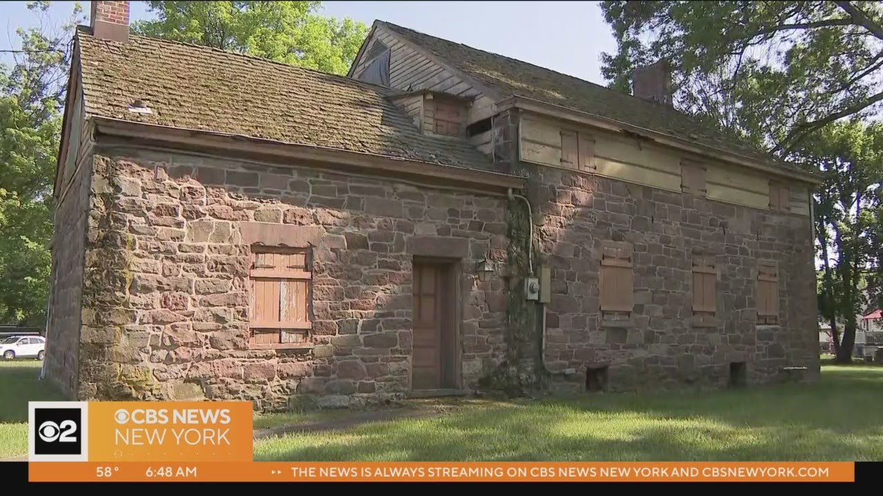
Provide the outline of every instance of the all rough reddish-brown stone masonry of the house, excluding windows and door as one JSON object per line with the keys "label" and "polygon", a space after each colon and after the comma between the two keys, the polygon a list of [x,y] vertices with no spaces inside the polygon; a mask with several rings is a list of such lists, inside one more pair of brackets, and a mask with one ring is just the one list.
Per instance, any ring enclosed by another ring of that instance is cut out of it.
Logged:
{"label": "all rough reddish-brown stone masonry of the house, excluding windows and door", "polygon": [[[605,370],[612,391],[721,387],[734,363],[746,365],[751,383],[778,380],[783,366],[818,376],[805,217],[534,169],[535,263],[551,267],[553,295],[540,356],[540,312],[521,294],[527,234],[517,203],[187,154],[96,154],[92,169],[57,213],[70,250],[54,255],[60,276],[47,355],[49,377],[80,399],[240,399],[281,410],[305,398],[343,406],[402,397],[410,390],[411,263],[420,254],[462,261],[466,390],[584,390],[591,370]],[[87,205],[87,218],[75,214]],[[255,232],[275,233],[261,243],[313,248],[311,348],[249,349]],[[607,242],[634,252],[634,310],[614,322],[599,312]],[[474,264],[488,249],[508,264],[478,282]],[[698,255],[721,269],[711,323],[691,318]],[[776,326],[757,325],[758,259],[781,267]]]}

